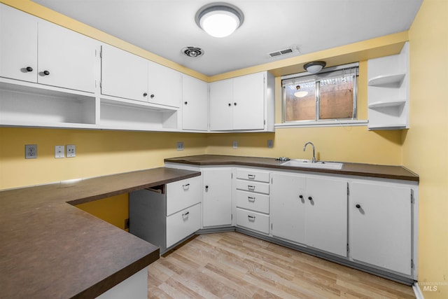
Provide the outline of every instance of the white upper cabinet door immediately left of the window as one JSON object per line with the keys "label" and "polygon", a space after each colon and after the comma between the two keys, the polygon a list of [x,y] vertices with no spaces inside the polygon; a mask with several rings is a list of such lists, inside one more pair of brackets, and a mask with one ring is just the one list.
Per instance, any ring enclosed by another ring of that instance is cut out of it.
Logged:
{"label": "white upper cabinet door immediately left of the window", "polygon": [[265,128],[264,73],[233,79],[233,130]]}

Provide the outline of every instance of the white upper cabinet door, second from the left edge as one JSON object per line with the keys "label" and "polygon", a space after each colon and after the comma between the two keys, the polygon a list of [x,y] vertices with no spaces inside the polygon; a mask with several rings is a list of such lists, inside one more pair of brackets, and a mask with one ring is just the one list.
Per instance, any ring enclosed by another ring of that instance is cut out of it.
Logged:
{"label": "white upper cabinet door, second from the left edge", "polygon": [[95,91],[97,42],[44,20],[38,23],[38,83]]}

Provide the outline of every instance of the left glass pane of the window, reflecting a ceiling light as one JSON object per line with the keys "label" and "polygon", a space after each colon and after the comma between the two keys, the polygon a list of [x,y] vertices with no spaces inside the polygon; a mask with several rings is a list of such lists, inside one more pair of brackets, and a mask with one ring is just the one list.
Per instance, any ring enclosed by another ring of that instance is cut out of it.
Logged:
{"label": "left glass pane of the window, reflecting a ceiling light", "polygon": [[[297,86],[300,88],[297,89]],[[316,120],[316,83],[285,86],[285,121]]]}

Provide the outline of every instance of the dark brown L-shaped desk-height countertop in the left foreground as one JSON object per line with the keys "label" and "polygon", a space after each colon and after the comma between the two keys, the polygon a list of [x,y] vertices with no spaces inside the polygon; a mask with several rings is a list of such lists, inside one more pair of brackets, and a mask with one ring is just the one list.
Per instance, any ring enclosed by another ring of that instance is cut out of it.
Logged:
{"label": "dark brown L-shaped desk-height countertop in the left foreground", "polygon": [[94,298],[159,249],[71,204],[188,179],[165,167],[0,191],[0,298]]}

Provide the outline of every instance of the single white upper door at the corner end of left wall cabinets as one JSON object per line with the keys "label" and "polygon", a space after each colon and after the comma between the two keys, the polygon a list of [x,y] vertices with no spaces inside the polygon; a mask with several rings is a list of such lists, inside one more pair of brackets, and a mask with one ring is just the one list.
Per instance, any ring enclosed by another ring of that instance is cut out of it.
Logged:
{"label": "single white upper door at the corner end of left wall cabinets", "polygon": [[182,130],[207,131],[209,84],[191,76],[182,78]]}

